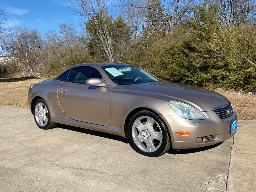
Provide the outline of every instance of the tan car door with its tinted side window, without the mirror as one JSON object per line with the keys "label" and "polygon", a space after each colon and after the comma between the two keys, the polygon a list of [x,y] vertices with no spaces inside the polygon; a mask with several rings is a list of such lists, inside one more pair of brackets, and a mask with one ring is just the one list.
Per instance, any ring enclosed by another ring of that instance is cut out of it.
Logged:
{"label": "tan car door with its tinted side window, without the mirror", "polygon": [[93,67],[70,69],[67,81],[58,87],[60,107],[71,119],[109,126],[110,92],[106,86],[89,86],[85,83],[93,77],[102,78]]}

